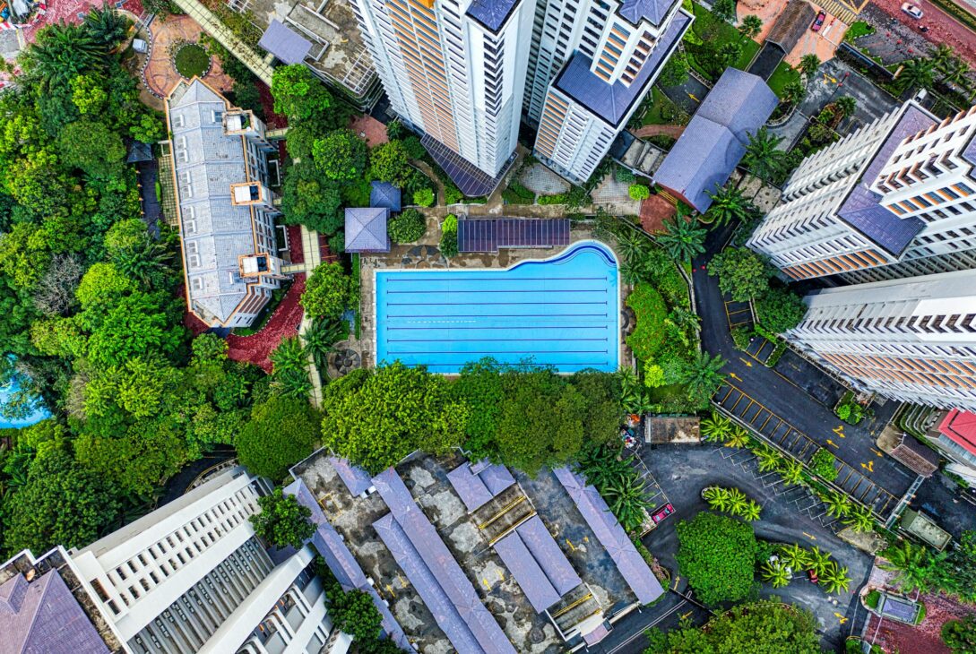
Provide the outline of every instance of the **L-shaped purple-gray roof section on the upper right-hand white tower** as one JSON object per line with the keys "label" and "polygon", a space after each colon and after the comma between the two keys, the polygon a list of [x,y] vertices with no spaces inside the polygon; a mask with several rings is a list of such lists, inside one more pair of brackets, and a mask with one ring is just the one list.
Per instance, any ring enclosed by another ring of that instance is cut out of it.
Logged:
{"label": "L-shaped purple-gray roof section on the upper right-hand white tower", "polygon": [[899,218],[878,204],[881,196],[871,189],[877,181],[881,169],[884,168],[892,153],[906,137],[922,130],[927,130],[938,123],[932,114],[925,109],[909,103],[891,133],[881,143],[874,159],[864,169],[861,179],[848,193],[847,198],[837,210],[845,223],[851,225],[874,243],[891,253],[895,257],[901,256],[909,244],[915,239],[925,223],[915,217]]}

